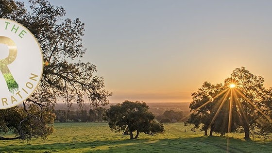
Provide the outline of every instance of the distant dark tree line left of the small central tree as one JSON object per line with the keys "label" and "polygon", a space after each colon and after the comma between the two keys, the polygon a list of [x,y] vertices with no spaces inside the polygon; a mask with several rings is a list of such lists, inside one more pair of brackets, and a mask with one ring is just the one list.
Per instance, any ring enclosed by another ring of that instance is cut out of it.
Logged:
{"label": "distant dark tree line left of the small central tree", "polygon": [[55,110],[55,122],[102,122],[106,109]]}

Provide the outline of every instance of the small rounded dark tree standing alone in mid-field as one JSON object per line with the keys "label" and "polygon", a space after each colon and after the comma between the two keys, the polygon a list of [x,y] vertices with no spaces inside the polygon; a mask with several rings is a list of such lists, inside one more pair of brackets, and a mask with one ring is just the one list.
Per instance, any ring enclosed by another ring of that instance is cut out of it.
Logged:
{"label": "small rounded dark tree standing alone in mid-field", "polygon": [[[128,129],[130,139],[136,139],[140,132],[148,135],[163,132],[163,125],[154,120],[155,116],[148,109],[145,102],[125,101],[122,104],[111,105],[106,111],[106,119],[112,131]],[[135,137],[134,131],[136,131]]]}

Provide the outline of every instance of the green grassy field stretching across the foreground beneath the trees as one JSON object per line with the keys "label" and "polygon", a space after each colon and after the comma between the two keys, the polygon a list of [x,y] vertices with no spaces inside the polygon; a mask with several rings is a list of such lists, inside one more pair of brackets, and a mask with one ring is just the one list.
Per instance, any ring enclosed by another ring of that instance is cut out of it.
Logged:
{"label": "green grassy field stretching across the foreground beneath the trees", "polygon": [[[203,136],[183,123],[165,125],[157,136],[140,134],[136,140],[110,131],[107,123],[55,123],[48,139],[2,140],[0,153],[272,153],[272,142]],[[185,132],[186,130],[186,132]]]}

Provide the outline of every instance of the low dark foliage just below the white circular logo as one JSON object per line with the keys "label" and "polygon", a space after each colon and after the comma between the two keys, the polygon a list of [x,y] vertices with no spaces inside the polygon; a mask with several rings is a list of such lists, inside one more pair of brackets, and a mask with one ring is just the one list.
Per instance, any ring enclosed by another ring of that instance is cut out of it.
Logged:
{"label": "low dark foliage just below the white circular logo", "polygon": [[[39,117],[39,108],[36,105],[31,105],[28,111],[32,112],[33,117],[28,117],[29,114],[22,107],[12,107],[0,111],[0,133],[6,134],[8,132],[13,132],[16,137],[5,138],[0,136],[0,139],[30,139],[31,137],[47,137],[53,132],[52,126],[44,124],[42,129],[39,127],[40,122],[43,119],[45,122],[53,123],[54,114],[51,110],[44,109],[46,113],[42,117]],[[22,137],[24,136],[24,137]]]}

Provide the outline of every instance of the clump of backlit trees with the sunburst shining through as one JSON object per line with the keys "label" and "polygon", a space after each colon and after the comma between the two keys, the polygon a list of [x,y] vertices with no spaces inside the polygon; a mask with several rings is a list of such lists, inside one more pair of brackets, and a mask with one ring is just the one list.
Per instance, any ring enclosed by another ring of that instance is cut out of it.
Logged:
{"label": "clump of backlit trees with the sunburst shining through", "polygon": [[[230,86],[233,84],[232,86]],[[221,135],[228,132],[244,132],[246,139],[252,135],[272,132],[272,88],[264,87],[264,79],[245,68],[236,68],[224,85],[204,82],[192,93],[192,114],[187,123],[201,126],[204,135],[210,129]]]}

